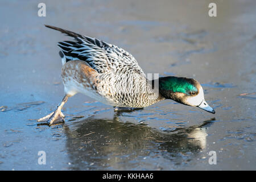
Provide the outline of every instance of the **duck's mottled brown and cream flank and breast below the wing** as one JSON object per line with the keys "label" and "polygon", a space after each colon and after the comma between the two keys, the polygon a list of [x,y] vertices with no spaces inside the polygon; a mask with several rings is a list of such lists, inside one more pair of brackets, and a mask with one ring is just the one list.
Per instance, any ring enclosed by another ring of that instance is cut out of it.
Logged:
{"label": "duck's mottled brown and cream flank and breast below the wing", "polygon": [[85,61],[68,61],[63,65],[61,76],[65,88],[71,93],[72,90],[87,90],[92,92],[92,98],[97,94],[100,102],[113,106],[146,107],[164,99],[162,95],[157,95],[156,91],[148,92],[151,85],[147,85],[146,78],[141,75],[129,78],[129,75],[119,76],[112,72],[98,73]]}

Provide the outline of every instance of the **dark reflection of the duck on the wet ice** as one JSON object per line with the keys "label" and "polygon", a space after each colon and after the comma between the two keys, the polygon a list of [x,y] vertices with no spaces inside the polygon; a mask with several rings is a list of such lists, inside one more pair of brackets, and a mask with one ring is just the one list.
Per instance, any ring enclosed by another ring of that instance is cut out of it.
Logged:
{"label": "dark reflection of the duck on the wet ice", "polygon": [[87,118],[72,129],[64,125],[64,132],[72,169],[161,169],[162,163],[188,162],[188,155],[203,150],[211,123],[166,133],[145,124]]}

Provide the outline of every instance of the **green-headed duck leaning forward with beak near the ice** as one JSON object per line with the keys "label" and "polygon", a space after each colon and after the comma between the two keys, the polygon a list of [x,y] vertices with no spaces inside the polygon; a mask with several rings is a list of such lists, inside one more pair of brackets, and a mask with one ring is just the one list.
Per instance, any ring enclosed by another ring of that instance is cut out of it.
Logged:
{"label": "green-headed duck leaning forward with beak near the ice", "polygon": [[162,100],[174,100],[215,113],[205,101],[204,90],[197,80],[175,76],[159,77],[158,74],[150,79],[133,55],[125,49],[63,28],[45,26],[72,37],[73,41],[57,44],[63,64],[63,100],[55,111],[38,119],[38,122],[47,122],[48,125],[64,122],[65,116],[61,109],[68,98],[77,93],[118,108],[136,109]]}

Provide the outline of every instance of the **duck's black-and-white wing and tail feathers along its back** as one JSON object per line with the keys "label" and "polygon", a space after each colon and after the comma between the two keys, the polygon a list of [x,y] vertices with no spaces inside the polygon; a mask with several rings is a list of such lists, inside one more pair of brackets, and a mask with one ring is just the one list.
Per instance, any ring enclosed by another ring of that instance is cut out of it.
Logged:
{"label": "duck's black-and-white wing and tail feathers along its back", "polygon": [[100,39],[90,38],[62,28],[46,25],[48,28],[71,36],[75,41],[63,41],[57,45],[60,48],[62,64],[71,60],[86,61],[98,73],[112,71],[113,73],[136,72],[146,77],[134,57],[124,49],[106,43]]}

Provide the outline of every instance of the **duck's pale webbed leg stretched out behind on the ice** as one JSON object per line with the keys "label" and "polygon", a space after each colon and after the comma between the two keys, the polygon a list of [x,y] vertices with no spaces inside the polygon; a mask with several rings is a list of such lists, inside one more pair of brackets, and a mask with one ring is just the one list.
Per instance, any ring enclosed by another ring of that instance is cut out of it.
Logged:
{"label": "duck's pale webbed leg stretched out behind on the ice", "polygon": [[59,123],[59,122],[64,122],[64,114],[61,113],[61,109],[63,105],[68,101],[68,97],[70,97],[68,94],[66,94],[60,103],[59,106],[57,106],[57,109],[53,111],[51,114],[46,115],[43,118],[38,119],[38,122],[48,122],[49,125],[52,125],[53,123]]}

